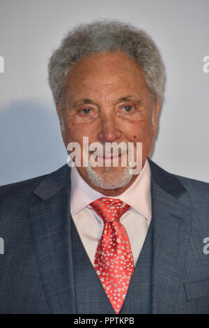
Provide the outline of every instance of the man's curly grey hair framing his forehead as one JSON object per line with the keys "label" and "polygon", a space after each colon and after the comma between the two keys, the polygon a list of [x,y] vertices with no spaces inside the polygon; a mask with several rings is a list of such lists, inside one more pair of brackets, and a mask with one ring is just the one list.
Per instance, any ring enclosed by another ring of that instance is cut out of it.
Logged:
{"label": "man's curly grey hair framing his forehead", "polygon": [[48,65],[49,87],[54,102],[62,103],[66,77],[79,59],[108,51],[121,51],[136,60],[153,100],[162,105],[166,75],[160,51],[144,30],[116,20],[80,24],[63,38]]}

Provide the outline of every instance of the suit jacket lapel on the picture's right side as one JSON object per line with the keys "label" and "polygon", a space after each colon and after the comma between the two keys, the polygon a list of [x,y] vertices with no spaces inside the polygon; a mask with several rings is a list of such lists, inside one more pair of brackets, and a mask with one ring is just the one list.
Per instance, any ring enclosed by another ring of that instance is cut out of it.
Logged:
{"label": "suit jacket lapel on the picture's right side", "polygon": [[153,213],[152,312],[172,313],[182,283],[192,210],[183,184],[152,161],[149,163]]}

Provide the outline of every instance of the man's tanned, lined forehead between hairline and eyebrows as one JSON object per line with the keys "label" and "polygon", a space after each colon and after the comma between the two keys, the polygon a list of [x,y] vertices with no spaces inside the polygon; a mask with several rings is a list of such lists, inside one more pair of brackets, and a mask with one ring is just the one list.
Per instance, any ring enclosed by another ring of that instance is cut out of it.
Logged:
{"label": "man's tanned, lined forehead between hairline and eyebrows", "polygon": [[91,54],[72,66],[67,77],[70,94],[105,98],[123,94],[149,94],[144,73],[134,59],[123,52]]}

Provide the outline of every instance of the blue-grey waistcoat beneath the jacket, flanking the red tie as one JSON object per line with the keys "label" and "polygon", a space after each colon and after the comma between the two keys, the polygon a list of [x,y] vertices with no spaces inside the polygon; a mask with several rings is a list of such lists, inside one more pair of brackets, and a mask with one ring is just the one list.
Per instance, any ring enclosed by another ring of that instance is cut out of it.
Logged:
{"label": "blue-grey waistcoat beneath the jacket, flanking the red tie", "polygon": [[[152,237],[151,222],[120,314],[151,313]],[[72,220],[71,238],[77,313],[116,314]]]}

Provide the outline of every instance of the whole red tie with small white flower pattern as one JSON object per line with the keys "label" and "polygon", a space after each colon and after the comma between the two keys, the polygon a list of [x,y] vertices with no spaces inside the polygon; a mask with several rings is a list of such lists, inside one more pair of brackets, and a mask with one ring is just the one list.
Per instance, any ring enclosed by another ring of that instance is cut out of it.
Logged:
{"label": "whole red tie with small white flower pattern", "polygon": [[130,205],[109,197],[101,197],[90,205],[104,221],[94,267],[114,311],[118,314],[134,271],[127,232],[119,222]]}

